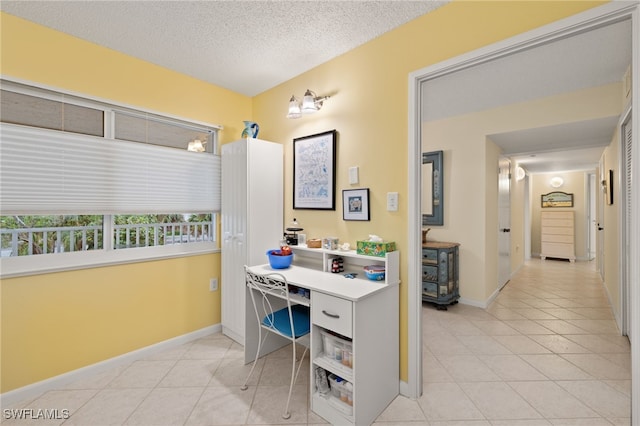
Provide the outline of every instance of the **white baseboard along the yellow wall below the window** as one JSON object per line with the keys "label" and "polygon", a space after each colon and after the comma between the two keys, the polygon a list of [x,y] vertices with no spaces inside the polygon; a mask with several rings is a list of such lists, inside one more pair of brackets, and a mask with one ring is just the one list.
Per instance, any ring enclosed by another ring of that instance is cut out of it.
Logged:
{"label": "white baseboard along the yellow wall below the window", "polygon": [[127,352],[122,355],[118,355],[113,358],[106,359],[104,361],[97,362],[95,364],[88,365],[86,367],[78,368],[77,370],[69,371],[68,373],[60,374],[49,379],[42,380],[40,382],[32,383],[27,386],[23,386],[18,389],[14,389],[9,392],[0,394],[0,406],[7,407],[15,405],[21,401],[33,400],[43,393],[58,389],[66,386],[69,383],[91,377],[97,373],[109,370],[119,365],[137,361],[142,358],[149,357],[158,352],[171,349],[185,343],[189,343],[193,340],[200,339],[201,337],[208,336],[214,333],[220,333],[222,331],[222,325],[216,324],[209,327],[201,328],[200,330],[192,331],[191,333],[183,334],[181,336],[173,337],[162,342],[155,343],[150,346],[146,346],[135,351]]}

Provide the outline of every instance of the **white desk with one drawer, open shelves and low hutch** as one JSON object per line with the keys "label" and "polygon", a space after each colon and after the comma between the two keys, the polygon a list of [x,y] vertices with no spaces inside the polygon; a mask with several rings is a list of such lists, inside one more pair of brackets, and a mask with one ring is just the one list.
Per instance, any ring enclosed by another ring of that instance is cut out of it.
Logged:
{"label": "white desk with one drawer, open shelves and low hutch", "polygon": [[[326,255],[326,252],[318,253]],[[332,424],[371,424],[399,393],[399,277],[387,277],[384,282],[371,281],[362,271],[362,256],[353,253],[350,258],[346,254],[344,259],[345,272],[337,274],[324,272],[321,265],[314,267],[308,257],[303,262],[305,267],[294,264],[286,269],[272,269],[266,264],[249,269],[259,274],[280,273],[290,285],[310,290],[309,299],[298,298],[297,301],[311,308],[309,378],[312,411]],[[354,259],[356,263],[350,264]],[[366,260],[385,264],[387,271],[397,271],[399,254],[394,252],[386,258]],[[356,268],[360,271],[358,278],[344,276]],[[250,297],[247,300],[251,303]],[[245,361],[249,362],[255,357],[258,325],[253,306],[247,305],[246,311]],[[352,339],[352,368],[324,356],[321,332],[325,330]],[[289,343],[284,339],[276,340],[267,339],[272,346],[265,348],[261,356]],[[352,407],[317,392],[317,368],[352,383]]]}

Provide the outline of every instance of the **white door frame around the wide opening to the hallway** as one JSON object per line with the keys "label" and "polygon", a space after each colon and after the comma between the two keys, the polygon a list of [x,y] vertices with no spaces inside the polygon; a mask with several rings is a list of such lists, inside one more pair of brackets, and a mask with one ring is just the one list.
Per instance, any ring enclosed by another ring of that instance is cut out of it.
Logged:
{"label": "white door frame around the wide opening to the hallway", "polygon": [[[478,65],[502,56],[514,54],[524,49],[545,44],[553,40],[565,38],[579,32],[589,31],[602,25],[623,19],[632,22],[632,126],[640,128],[640,78],[638,77],[640,57],[640,17],[638,2],[615,1],[571,17],[553,22],[532,31],[522,33],[509,39],[483,47],[481,49],[457,56],[452,59],[428,66],[409,74],[408,87],[408,381],[401,383],[404,395],[418,398],[422,395],[422,298],[421,295],[421,191],[420,191],[420,158],[421,158],[421,90],[422,81],[441,77],[455,71]],[[632,138],[635,152],[640,152],[638,132]],[[640,170],[640,155],[633,159],[632,167]],[[640,211],[640,173],[633,176],[632,182],[633,211]],[[640,257],[640,221],[631,224],[631,255]],[[640,282],[640,265],[631,267],[632,282]],[[631,289],[631,321],[640,323],[640,289]],[[633,330],[632,341],[640,341],[640,327]],[[640,376],[640,351],[632,353],[632,377]],[[632,381],[631,398],[632,416],[638,417],[640,411],[640,380]],[[634,415],[635,414],[635,415]]]}

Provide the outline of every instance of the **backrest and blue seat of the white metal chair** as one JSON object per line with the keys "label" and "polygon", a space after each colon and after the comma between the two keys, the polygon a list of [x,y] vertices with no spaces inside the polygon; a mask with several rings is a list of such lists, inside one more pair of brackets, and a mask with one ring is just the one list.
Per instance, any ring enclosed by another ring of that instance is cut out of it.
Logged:
{"label": "backrest and blue seat of the white metal chair", "polygon": [[[245,266],[245,275],[258,323],[294,339],[301,334],[308,333],[309,320],[308,318],[300,318],[301,312],[296,309],[305,309],[306,312],[302,315],[308,317],[308,308],[297,304],[292,305],[289,297],[289,284],[284,275],[277,272],[258,274],[251,272],[247,266]],[[285,307],[288,311],[288,324],[286,325],[281,322],[283,318],[277,315],[278,311]],[[274,314],[276,315],[274,316]],[[301,329],[299,318],[307,322],[307,325],[302,327],[305,331],[299,331]]]}

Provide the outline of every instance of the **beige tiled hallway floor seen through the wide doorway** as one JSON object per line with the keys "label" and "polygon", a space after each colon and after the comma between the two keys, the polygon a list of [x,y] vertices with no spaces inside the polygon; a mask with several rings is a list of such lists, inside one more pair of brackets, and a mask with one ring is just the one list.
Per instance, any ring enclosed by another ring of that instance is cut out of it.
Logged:
{"label": "beige tiled hallway floor seen through the wide doorway", "polygon": [[425,305],[426,418],[628,425],[630,345],[594,263],[532,259],[486,311]]}

